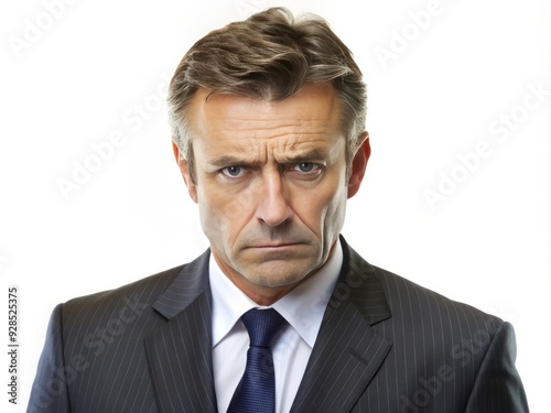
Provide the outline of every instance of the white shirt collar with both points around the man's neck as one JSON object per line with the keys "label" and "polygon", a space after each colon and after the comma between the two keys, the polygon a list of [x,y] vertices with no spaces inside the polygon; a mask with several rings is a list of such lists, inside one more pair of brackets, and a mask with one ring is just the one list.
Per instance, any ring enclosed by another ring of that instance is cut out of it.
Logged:
{"label": "white shirt collar with both points around the man's neck", "polygon": [[[343,249],[337,240],[327,262],[312,276],[271,305],[314,347],[323,315],[343,265]],[[241,315],[258,307],[220,270],[210,254],[209,281],[213,294],[213,348],[231,330]]]}

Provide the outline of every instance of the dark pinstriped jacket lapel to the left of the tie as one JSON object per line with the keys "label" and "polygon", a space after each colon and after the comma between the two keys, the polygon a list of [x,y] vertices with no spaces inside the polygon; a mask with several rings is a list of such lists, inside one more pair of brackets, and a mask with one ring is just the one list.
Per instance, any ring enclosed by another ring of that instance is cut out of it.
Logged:
{"label": "dark pinstriped jacket lapel to the left of the tie", "polygon": [[187,264],[153,305],[166,318],[145,339],[160,412],[216,412],[208,257]]}

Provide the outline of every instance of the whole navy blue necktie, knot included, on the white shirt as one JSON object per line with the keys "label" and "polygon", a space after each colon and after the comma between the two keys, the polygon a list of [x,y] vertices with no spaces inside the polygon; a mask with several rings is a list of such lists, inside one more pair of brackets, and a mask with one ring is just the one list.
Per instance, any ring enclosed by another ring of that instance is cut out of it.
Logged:
{"label": "whole navy blue necktie, knot included, on the white shirt", "polygon": [[241,316],[249,333],[247,367],[229,403],[228,413],[273,413],[276,376],[271,341],[284,318],[273,308],[249,309]]}

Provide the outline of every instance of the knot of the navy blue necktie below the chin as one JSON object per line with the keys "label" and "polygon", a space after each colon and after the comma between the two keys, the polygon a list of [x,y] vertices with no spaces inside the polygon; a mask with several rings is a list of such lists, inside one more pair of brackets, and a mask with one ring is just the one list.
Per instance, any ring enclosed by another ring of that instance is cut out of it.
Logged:
{"label": "knot of the navy blue necktie below the chin", "polygon": [[241,322],[249,333],[250,346],[270,347],[285,319],[273,308],[252,308],[241,316]]}

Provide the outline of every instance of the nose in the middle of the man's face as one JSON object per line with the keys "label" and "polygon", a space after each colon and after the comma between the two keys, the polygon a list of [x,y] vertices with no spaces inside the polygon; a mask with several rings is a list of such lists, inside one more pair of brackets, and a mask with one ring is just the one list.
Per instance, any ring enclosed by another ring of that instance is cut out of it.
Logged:
{"label": "nose in the middle of the man's face", "polygon": [[282,176],[274,172],[263,176],[258,196],[257,218],[269,227],[278,227],[291,219],[289,193]]}

